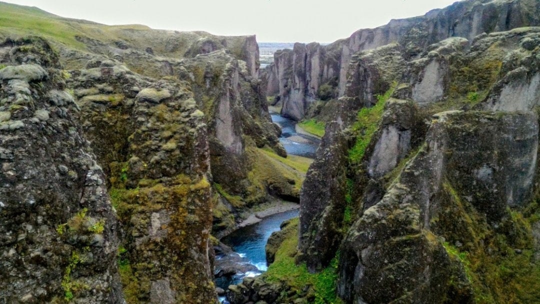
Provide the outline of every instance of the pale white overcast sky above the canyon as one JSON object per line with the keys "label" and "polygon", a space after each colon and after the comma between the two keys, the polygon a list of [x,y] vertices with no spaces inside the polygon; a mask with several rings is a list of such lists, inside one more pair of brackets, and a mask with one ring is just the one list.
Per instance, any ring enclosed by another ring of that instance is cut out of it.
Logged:
{"label": "pale white overcast sky above the canyon", "polygon": [[7,0],[105,24],[257,35],[258,42],[333,42],[456,0]]}

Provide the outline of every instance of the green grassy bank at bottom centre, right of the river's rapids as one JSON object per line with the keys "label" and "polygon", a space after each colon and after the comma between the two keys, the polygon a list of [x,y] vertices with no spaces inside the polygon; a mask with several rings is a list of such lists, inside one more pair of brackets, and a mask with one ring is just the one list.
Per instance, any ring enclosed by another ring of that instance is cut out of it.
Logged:
{"label": "green grassy bank at bottom centre, right of the river's rapids", "polygon": [[[339,304],[342,301],[336,296],[338,279],[338,259],[334,258],[330,266],[319,273],[311,274],[306,264],[296,265],[294,256],[298,247],[299,219],[293,219],[286,229],[286,238],[275,254],[275,261],[268,267],[264,278],[268,282],[284,282],[292,292],[298,294],[312,289],[316,304]],[[309,293],[309,292],[308,292]],[[285,299],[284,299],[285,300]]]}

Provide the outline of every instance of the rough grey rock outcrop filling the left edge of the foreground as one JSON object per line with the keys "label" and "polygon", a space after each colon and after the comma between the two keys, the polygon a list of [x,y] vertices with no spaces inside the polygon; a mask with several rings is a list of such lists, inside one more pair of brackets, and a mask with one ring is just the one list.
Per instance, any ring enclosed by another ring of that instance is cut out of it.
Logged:
{"label": "rough grey rock outcrop filling the left edge of the foreground", "polygon": [[123,303],[106,178],[42,39],[0,44],[0,302]]}

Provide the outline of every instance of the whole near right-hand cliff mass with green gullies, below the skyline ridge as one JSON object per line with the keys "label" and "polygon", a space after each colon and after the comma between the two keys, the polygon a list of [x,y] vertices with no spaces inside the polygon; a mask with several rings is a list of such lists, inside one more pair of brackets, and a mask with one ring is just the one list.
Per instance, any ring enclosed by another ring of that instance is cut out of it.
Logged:
{"label": "whole near right-hand cliff mass with green gullies, below the skyline ridge", "polygon": [[299,225],[232,302],[538,302],[539,35],[356,52]]}

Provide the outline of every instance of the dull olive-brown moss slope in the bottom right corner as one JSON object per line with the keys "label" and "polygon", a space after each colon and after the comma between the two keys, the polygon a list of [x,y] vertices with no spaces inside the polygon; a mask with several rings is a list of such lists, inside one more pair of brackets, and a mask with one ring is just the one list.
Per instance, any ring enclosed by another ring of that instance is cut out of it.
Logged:
{"label": "dull olive-brown moss slope in the bottom right corner", "polygon": [[[487,224],[458,191],[443,184],[448,204],[431,225],[441,233],[447,253],[457,258],[473,287],[477,304],[534,303],[540,299],[540,264],[535,261],[531,225],[537,220],[533,210],[512,210],[497,227]],[[529,208],[530,209],[530,208]],[[449,232],[448,232],[449,231]]]}

